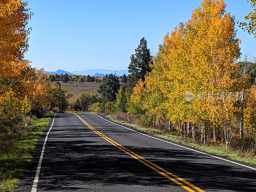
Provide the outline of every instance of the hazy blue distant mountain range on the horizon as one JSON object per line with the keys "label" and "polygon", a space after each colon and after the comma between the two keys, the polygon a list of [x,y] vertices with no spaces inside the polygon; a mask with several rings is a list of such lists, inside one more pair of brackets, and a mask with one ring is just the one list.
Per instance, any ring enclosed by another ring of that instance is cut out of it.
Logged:
{"label": "hazy blue distant mountain range on the horizon", "polygon": [[47,74],[59,74],[61,73],[65,74],[67,73],[68,75],[90,75],[90,76],[98,76],[98,77],[105,77],[106,74],[109,75],[110,73],[115,74],[116,76],[122,76],[122,75],[128,75],[129,72],[128,70],[108,70],[108,69],[90,69],[90,70],[84,70],[84,71],[64,71],[64,70],[57,70],[55,72],[53,71],[45,71]]}

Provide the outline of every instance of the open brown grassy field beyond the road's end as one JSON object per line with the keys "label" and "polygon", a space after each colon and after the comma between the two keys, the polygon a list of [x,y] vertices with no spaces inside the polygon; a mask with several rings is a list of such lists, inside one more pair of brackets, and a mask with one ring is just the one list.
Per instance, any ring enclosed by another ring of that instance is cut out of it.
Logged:
{"label": "open brown grassy field beyond the road's end", "polygon": [[65,88],[68,89],[68,91],[74,93],[74,95],[71,97],[71,99],[75,99],[80,93],[82,92],[89,92],[90,94],[93,93],[99,93],[97,92],[97,89],[100,87],[100,83],[95,82],[84,82],[84,83],[78,83],[76,81],[70,81],[68,83],[60,82],[60,85],[65,86]]}

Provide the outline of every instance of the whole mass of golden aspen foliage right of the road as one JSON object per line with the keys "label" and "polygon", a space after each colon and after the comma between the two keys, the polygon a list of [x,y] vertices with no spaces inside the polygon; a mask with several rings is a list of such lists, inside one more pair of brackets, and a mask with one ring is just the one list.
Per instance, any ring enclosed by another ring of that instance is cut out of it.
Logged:
{"label": "whole mass of golden aspen foliage right of the road", "polygon": [[[227,96],[239,92],[241,85],[236,62],[240,40],[225,7],[223,0],[204,0],[191,19],[164,36],[141,92],[149,115],[172,122],[218,124],[228,147],[238,107],[237,100]],[[187,93],[194,94],[191,100],[186,100]]]}

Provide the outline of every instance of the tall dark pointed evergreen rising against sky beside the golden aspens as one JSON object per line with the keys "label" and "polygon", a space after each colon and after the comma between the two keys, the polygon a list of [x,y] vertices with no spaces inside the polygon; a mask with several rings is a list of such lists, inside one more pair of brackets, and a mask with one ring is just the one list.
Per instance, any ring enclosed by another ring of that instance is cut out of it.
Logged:
{"label": "tall dark pointed evergreen rising against sky beside the golden aspens", "polygon": [[135,54],[132,54],[131,63],[128,66],[129,73],[127,77],[128,92],[132,92],[132,88],[137,84],[139,79],[145,81],[145,75],[151,71],[149,64],[152,63],[150,50],[147,48],[147,40],[143,37],[140,40],[138,48],[135,49]]}

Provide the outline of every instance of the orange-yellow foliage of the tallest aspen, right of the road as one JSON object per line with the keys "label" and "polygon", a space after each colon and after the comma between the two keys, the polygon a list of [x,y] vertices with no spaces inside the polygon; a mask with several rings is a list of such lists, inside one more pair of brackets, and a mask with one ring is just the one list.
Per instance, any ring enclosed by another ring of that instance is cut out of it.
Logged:
{"label": "orange-yellow foliage of the tallest aspen, right of the road", "polygon": [[[187,28],[193,29],[189,32],[193,39],[190,59],[193,67],[190,74],[192,81],[196,83],[194,85],[197,85],[192,87],[193,91],[206,94],[224,93],[226,98],[227,92],[236,92],[239,89],[239,64],[236,60],[240,56],[240,40],[235,38],[234,18],[229,12],[224,15],[225,6],[222,0],[204,0],[202,7],[192,12]],[[215,95],[216,98],[217,96]],[[204,119],[213,121],[219,117],[218,123],[232,119],[235,100],[205,98],[195,101],[198,101],[198,113],[207,113],[201,114],[206,115]]]}

